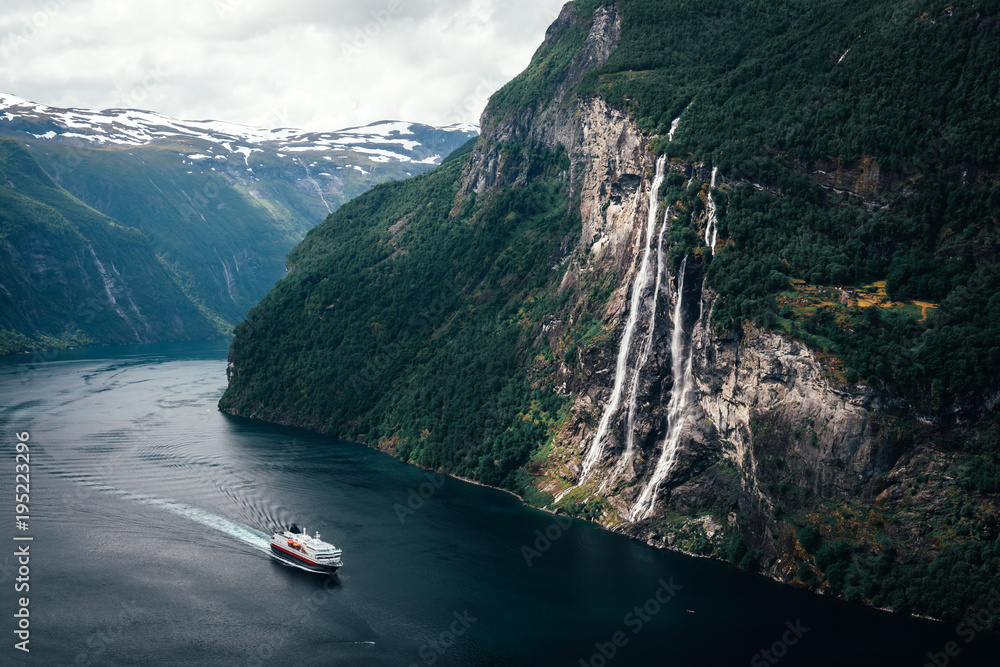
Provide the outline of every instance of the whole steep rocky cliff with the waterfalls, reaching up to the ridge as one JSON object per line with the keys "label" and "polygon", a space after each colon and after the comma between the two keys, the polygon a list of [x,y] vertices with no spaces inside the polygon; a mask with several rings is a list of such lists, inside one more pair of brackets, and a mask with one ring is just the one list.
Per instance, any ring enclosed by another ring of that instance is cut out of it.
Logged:
{"label": "whole steep rocky cliff with the waterfalls, reaching up to the ridge", "polygon": [[[572,18],[564,11],[548,40]],[[528,335],[535,349],[556,352],[554,362],[536,364],[536,377],[569,403],[533,463],[529,496],[653,544],[735,553],[746,567],[798,581],[804,564],[815,566],[797,526],[817,523],[824,503],[898,509],[888,503],[888,480],[927,456],[933,429],[915,439],[917,416],[905,401],[845,381],[836,359],[803,342],[749,324],[713,326],[717,296],[705,268],[717,236],[672,262],[664,238],[669,243],[676,216],[654,190],[669,175],[727,191],[741,181],[681,159],[658,170],[651,144],[665,137],[641,131],[600,96],[569,94],[607,60],[620,33],[616,8],[599,7],[580,55],[543,102],[502,118],[487,109],[484,141],[464,172],[463,193],[489,197],[524,181],[523,171],[505,169],[503,147],[511,143],[562,146],[572,164],[582,226],[559,258],[565,302]],[[683,123],[682,116],[673,124],[668,143]],[[880,175],[870,158],[850,169],[838,162],[830,174],[824,166],[804,171],[824,188],[875,199],[876,208],[886,205],[877,194],[904,190],[901,177]],[[699,236],[717,224],[711,197],[702,194],[695,216]],[[595,298],[602,291],[604,303]],[[581,341],[588,314],[599,316],[601,333]],[[559,358],[570,345],[578,363]],[[944,469],[955,464],[945,458]],[[920,530],[905,517],[888,523],[899,536]],[[828,535],[852,539],[869,528]]]}

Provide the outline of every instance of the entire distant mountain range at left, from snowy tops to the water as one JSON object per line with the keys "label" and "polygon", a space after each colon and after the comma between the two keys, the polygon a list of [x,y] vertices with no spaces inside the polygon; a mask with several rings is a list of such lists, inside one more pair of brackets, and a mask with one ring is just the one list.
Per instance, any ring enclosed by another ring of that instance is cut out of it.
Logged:
{"label": "entire distant mountain range at left, from snowy tops to the water", "polygon": [[[0,314],[0,353],[226,331],[284,275],[285,255],[306,231],[373,185],[434,167],[477,134],[474,125],[402,121],[335,132],[252,128],[0,94],[0,137],[9,138],[0,151],[0,219],[8,221],[0,229],[0,301],[10,300]],[[58,239],[42,218],[59,220]],[[124,256],[106,261],[123,251],[121,231],[133,244],[125,255],[142,257],[141,279]],[[69,265],[82,273],[49,270]],[[83,278],[88,272],[92,280]],[[88,280],[105,288],[55,284]],[[148,299],[130,286],[142,284],[148,295],[164,280],[171,285],[160,289],[151,317]],[[172,290],[184,303],[163,298]],[[41,309],[40,294],[48,295]],[[87,317],[70,316],[81,302],[91,303]],[[131,305],[119,313],[121,303]],[[105,310],[110,319],[94,315]]]}

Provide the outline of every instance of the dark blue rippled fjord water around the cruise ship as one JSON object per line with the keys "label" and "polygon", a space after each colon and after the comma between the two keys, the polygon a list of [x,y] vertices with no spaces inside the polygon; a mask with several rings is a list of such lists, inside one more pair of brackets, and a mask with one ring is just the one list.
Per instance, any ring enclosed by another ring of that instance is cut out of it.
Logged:
{"label": "dark blue rippled fjord water around the cruise ship", "polygon": [[[21,534],[34,537],[30,654],[13,648],[21,594],[15,559],[0,556],[0,664],[919,667],[928,653],[994,664],[1000,648],[228,417],[216,409],[225,368],[225,342],[0,364],[0,477],[10,491],[14,434],[29,431]],[[292,522],[343,549],[340,573],[268,555],[268,532]],[[663,604],[661,581],[680,587]],[[770,662],[760,651],[773,647]]]}

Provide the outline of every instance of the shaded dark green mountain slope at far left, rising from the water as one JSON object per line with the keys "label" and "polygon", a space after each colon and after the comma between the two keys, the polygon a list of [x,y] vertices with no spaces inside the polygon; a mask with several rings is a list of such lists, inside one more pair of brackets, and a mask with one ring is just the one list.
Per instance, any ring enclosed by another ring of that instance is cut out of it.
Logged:
{"label": "shaded dark green mountain slope at far left, rising from the water", "polygon": [[59,188],[0,139],[0,352],[219,335],[142,233]]}

